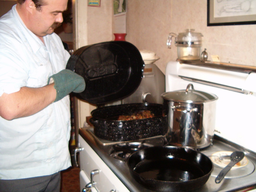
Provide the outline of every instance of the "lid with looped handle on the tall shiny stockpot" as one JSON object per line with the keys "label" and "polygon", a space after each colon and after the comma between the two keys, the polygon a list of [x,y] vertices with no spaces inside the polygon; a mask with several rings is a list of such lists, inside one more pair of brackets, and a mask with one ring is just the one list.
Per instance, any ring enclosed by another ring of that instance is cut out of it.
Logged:
{"label": "lid with looped handle on the tall shiny stockpot", "polygon": [[[189,90],[190,87],[191,90]],[[218,99],[215,94],[194,90],[193,84],[188,84],[186,90],[165,92],[161,96],[166,100],[186,103],[202,103]]]}

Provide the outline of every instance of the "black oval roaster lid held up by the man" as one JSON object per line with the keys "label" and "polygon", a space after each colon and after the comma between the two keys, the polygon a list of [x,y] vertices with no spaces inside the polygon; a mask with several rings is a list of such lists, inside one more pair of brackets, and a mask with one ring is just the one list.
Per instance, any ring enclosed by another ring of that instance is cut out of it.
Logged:
{"label": "black oval roaster lid held up by the man", "polygon": [[76,50],[66,69],[82,76],[84,92],[74,93],[92,104],[120,100],[140,85],[144,62],[139,50],[126,41],[102,42]]}

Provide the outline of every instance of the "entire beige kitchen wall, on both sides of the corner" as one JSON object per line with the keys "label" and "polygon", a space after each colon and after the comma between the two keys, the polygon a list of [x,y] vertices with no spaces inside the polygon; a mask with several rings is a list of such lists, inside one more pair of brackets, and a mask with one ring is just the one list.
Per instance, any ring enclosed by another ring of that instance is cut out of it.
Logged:
{"label": "entire beige kitchen wall, on both sides of the corner", "polygon": [[[156,65],[165,73],[166,63],[176,60],[177,50],[168,49],[170,32],[194,28],[201,32],[208,59],[218,55],[222,62],[256,66],[256,25],[207,26],[207,0],[126,0],[126,40],[138,49],[152,50],[160,57]],[[255,1],[255,0],[254,0]],[[100,7],[88,7],[87,1],[76,4],[75,49],[87,44],[114,40],[113,0],[102,0]],[[95,106],[77,104],[79,126]]]}

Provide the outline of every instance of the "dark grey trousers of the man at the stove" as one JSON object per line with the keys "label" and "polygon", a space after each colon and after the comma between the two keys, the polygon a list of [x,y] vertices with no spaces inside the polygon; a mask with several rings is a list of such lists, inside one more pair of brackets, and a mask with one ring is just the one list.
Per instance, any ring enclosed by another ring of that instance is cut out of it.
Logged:
{"label": "dark grey trousers of the man at the stove", "polygon": [[0,180],[0,192],[60,192],[60,172],[26,179]]}

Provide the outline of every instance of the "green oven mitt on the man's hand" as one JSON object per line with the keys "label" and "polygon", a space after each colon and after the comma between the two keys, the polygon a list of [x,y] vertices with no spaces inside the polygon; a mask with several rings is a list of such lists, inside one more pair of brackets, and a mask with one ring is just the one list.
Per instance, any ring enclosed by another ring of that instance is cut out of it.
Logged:
{"label": "green oven mitt on the man's hand", "polygon": [[72,70],[64,69],[48,79],[48,84],[54,81],[54,88],[56,89],[56,101],[61,100],[71,92],[80,93],[85,89],[85,81],[82,76],[76,74]]}

